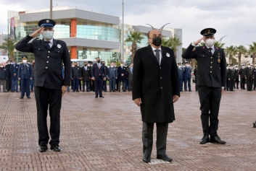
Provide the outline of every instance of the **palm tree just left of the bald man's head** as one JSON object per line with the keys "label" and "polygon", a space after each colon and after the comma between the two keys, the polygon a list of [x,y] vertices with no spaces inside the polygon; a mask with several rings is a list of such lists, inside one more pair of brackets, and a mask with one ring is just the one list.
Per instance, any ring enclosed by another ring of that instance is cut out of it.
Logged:
{"label": "palm tree just left of the bald man's head", "polygon": [[130,32],[130,35],[128,35],[128,38],[125,39],[125,42],[131,42],[131,62],[133,63],[133,58],[135,55],[135,52],[137,50],[137,43],[141,43],[141,40],[144,39],[141,36],[140,32]]}

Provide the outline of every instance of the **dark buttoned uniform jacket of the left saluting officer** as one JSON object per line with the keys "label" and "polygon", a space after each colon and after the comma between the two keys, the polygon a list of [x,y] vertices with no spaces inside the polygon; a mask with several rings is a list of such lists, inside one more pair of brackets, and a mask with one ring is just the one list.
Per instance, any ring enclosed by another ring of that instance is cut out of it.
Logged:
{"label": "dark buttoned uniform jacket of the left saluting officer", "polygon": [[[34,53],[35,86],[48,89],[62,89],[62,85],[70,86],[71,61],[67,45],[62,40],[53,40],[53,45],[48,51],[44,40],[33,40],[27,35],[16,45],[17,51]],[[65,78],[62,77],[62,62],[65,65]]]}

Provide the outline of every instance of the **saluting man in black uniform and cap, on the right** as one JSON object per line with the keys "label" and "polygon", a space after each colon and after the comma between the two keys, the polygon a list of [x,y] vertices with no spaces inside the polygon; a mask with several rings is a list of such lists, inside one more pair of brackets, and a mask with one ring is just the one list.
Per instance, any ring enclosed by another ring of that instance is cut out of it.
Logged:
{"label": "saluting man in black uniform and cap, on the right", "polygon": [[[217,133],[220,98],[226,84],[226,57],[223,49],[214,45],[215,32],[216,30],[212,28],[202,30],[203,37],[189,45],[182,54],[183,58],[197,59],[197,89],[204,133],[200,144],[206,144],[209,141],[209,135],[211,142],[226,144],[226,141],[221,140]],[[205,41],[205,45],[195,48],[202,40]]]}

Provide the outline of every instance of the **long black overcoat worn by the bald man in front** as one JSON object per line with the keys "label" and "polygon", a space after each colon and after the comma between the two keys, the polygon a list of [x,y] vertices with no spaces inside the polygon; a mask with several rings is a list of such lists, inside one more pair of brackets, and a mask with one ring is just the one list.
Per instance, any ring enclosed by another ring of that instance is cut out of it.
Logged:
{"label": "long black overcoat worn by the bald man in front", "polygon": [[151,45],[136,51],[133,62],[133,100],[141,97],[145,123],[175,120],[173,95],[180,96],[178,68],[173,50],[162,46],[161,64]]}

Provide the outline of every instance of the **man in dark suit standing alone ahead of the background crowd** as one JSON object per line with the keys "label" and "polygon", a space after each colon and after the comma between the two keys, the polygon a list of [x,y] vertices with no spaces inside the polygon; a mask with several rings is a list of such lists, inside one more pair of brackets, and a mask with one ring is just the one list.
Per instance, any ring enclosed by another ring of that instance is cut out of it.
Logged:
{"label": "man in dark suit standing alone ahead of the background crowd", "polygon": [[102,85],[103,81],[106,80],[106,73],[104,70],[104,66],[100,63],[100,58],[96,58],[97,63],[94,63],[91,69],[91,78],[94,80],[95,84],[95,98],[102,97]]}

